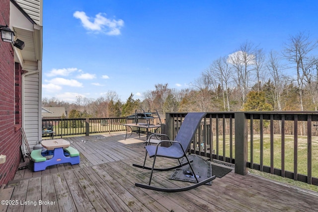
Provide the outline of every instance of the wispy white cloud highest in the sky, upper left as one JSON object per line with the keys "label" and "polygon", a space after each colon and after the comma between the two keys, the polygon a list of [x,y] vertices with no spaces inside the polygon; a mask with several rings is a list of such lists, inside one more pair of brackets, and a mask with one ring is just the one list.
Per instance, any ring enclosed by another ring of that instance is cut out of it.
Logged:
{"label": "wispy white cloud highest in the sky, upper left", "polygon": [[82,11],[76,11],[73,14],[75,18],[80,19],[85,29],[102,32],[107,35],[120,35],[120,28],[124,26],[124,21],[121,19],[108,19],[105,15],[105,13],[98,13],[92,18],[88,17],[86,13]]}

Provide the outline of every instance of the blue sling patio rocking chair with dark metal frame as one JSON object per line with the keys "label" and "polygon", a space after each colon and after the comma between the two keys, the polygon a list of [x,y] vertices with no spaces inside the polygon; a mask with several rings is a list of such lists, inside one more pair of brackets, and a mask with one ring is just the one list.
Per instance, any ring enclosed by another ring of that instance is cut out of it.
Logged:
{"label": "blue sling patio rocking chair with dark metal frame", "polygon": [[[164,192],[179,192],[179,191],[187,191],[189,189],[196,188],[200,185],[206,184],[210,182],[211,180],[215,179],[215,176],[209,177],[205,180],[202,180],[199,182],[197,179],[197,175],[195,174],[191,162],[189,161],[186,152],[190,147],[191,141],[200,125],[201,120],[203,117],[205,117],[206,113],[188,113],[184,121],[181,124],[181,127],[177,133],[177,136],[175,137],[174,141],[169,141],[169,140],[162,140],[159,141],[157,145],[146,145],[146,156],[144,160],[144,165],[138,165],[138,164],[133,164],[135,167],[143,168],[143,169],[148,169],[151,170],[150,174],[150,179],[149,179],[149,184],[141,184],[141,183],[136,183],[135,185],[141,188],[145,189],[151,189],[151,190],[156,190],[156,191],[164,191]],[[169,147],[161,146],[161,142],[170,142],[171,145]],[[146,159],[147,159],[147,154],[149,154],[150,158],[154,158],[153,161],[153,166],[146,167]],[[174,166],[174,167],[169,167],[169,168],[155,168],[155,162],[157,157],[165,157],[165,158],[172,158],[172,159],[178,159],[179,165]],[[186,158],[186,162],[181,164],[180,159],[182,157]],[[183,165],[189,164],[190,169],[192,171],[192,174],[195,177],[196,183],[190,186],[182,187],[182,188],[159,188],[159,187],[154,187],[151,186],[151,180],[153,176],[154,171],[166,171],[166,170],[172,170],[175,168],[182,167]]]}

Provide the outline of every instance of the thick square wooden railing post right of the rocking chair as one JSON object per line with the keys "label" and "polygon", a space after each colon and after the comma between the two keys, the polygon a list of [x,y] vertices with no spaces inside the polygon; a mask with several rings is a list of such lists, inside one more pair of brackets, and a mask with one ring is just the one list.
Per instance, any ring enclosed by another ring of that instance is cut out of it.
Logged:
{"label": "thick square wooden railing post right of the rocking chair", "polygon": [[235,173],[247,174],[247,119],[245,113],[235,113]]}

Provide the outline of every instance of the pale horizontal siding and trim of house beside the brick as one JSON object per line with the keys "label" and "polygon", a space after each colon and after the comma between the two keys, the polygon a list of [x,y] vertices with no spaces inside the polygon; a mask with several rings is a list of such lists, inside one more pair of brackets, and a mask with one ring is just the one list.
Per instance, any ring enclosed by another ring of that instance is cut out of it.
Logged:
{"label": "pale horizontal siding and trim of house beside the brick", "polygon": [[[12,1],[12,0],[11,0]],[[38,26],[43,25],[43,0],[15,0],[18,4],[19,10],[24,15],[27,14],[31,23]],[[11,13],[12,16],[12,13]],[[18,20],[15,20],[19,23]],[[26,139],[30,145],[31,150],[33,146],[41,141],[41,82],[42,82],[42,34],[41,27],[35,27],[34,32],[24,30],[20,26],[15,28],[18,34],[23,34],[23,41],[29,43],[32,49],[22,50],[24,53],[23,69],[25,73],[22,76],[22,127],[24,129]],[[32,50],[32,51],[31,51]],[[37,55],[39,54],[39,55]],[[22,148],[24,154],[24,148]]]}

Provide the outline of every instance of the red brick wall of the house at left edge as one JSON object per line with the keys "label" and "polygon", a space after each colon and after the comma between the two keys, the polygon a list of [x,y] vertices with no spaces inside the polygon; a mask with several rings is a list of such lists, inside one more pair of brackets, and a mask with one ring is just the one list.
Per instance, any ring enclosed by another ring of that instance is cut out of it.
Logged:
{"label": "red brick wall of the house at left edge", "polygon": [[[0,0],[1,25],[9,25],[9,13],[10,0]],[[19,76],[15,77],[16,74]],[[15,86],[17,82],[19,85]],[[20,98],[15,98],[16,95]],[[15,100],[21,105],[21,68],[14,65],[11,44],[0,39],[0,154],[6,155],[6,162],[0,164],[0,185],[13,179],[21,159],[21,106],[17,107],[18,122],[15,124]]]}

